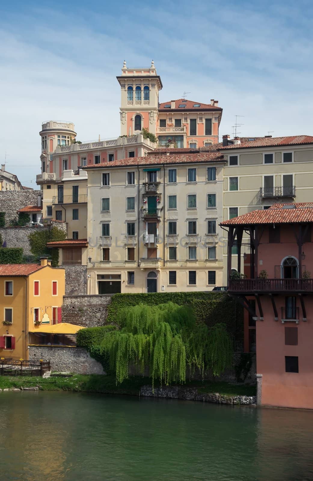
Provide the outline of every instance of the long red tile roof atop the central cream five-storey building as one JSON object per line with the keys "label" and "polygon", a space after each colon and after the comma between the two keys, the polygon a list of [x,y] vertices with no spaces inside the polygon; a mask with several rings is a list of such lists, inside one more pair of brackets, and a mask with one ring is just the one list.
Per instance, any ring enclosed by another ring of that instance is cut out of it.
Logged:
{"label": "long red tile roof atop the central cream five-storey building", "polygon": [[86,165],[85,169],[109,169],[111,167],[143,166],[158,164],[190,164],[197,162],[226,162],[224,155],[219,152],[186,153],[176,155],[160,155],[147,157],[130,157],[128,159],[114,160],[103,164]]}

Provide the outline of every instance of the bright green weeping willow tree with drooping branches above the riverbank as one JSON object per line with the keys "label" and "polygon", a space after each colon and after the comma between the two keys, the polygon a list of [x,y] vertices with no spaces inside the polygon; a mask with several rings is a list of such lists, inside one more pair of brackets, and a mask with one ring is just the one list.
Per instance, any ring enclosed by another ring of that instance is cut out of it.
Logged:
{"label": "bright green weeping willow tree with drooping branches above the riverbank", "polygon": [[152,384],[186,381],[186,371],[209,370],[219,376],[231,364],[232,349],[223,324],[208,329],[196,325],[189,306],[138,304],[120,314],[120,330],[108,332],[100,345],[116,372],[116,383],[128,377],[130,366],[143,374],[149,367]]}

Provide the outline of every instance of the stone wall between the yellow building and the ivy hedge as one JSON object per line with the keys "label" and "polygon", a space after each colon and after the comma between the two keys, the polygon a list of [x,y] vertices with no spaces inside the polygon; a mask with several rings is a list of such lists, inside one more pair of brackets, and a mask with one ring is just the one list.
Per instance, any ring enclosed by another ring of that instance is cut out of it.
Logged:
{"label": "stone wall between the yellow building and the ivy hedge", "polygon": [[62,321],[87,328],[103,326],[110,303],[110,295],[63,296]]}

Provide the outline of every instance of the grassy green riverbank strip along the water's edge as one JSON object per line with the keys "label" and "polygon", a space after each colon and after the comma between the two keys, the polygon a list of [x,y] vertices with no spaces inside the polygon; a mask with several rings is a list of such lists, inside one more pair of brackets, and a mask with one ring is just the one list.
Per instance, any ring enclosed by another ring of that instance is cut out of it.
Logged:
{"label": "grassy green riverbank strip along the water's edge", "polygon": [[[47,379],[27,376],[0,376],[0,389],[2,390],[39,385],[43,391],[105,392],[138,395],[142,386],[150,384],[150,378],[131,377],[116,386],[115,376],[99,376],[96,374],[90,376],[75,374],[73,377],[51,377]],[[158,386],[156,383],[155,387]],[[255,396],[256,394],[254,386],[230,384],[227,382],[192,380],[186,382],[184,387],[197,388],[200,393],[218,392],[222,396]]]}

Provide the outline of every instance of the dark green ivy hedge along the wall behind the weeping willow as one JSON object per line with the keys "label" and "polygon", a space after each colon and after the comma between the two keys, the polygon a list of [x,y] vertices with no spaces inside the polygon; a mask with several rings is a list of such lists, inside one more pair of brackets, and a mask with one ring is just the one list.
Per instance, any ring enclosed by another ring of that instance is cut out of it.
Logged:
{"label": "dark green ivy hedge along the wall behind the weeping willow", "polygon": [[155,292],[142,294],[114,294],[108,305],[108,324],[119,324],[122,309],[137,304],[158,305],[173,302],[178,305],[192,306],[197,323],[205,322],[208,327],[224,323],[234,341],[234,347],[240,349],[243,343],[243,308],[225,292]]}

